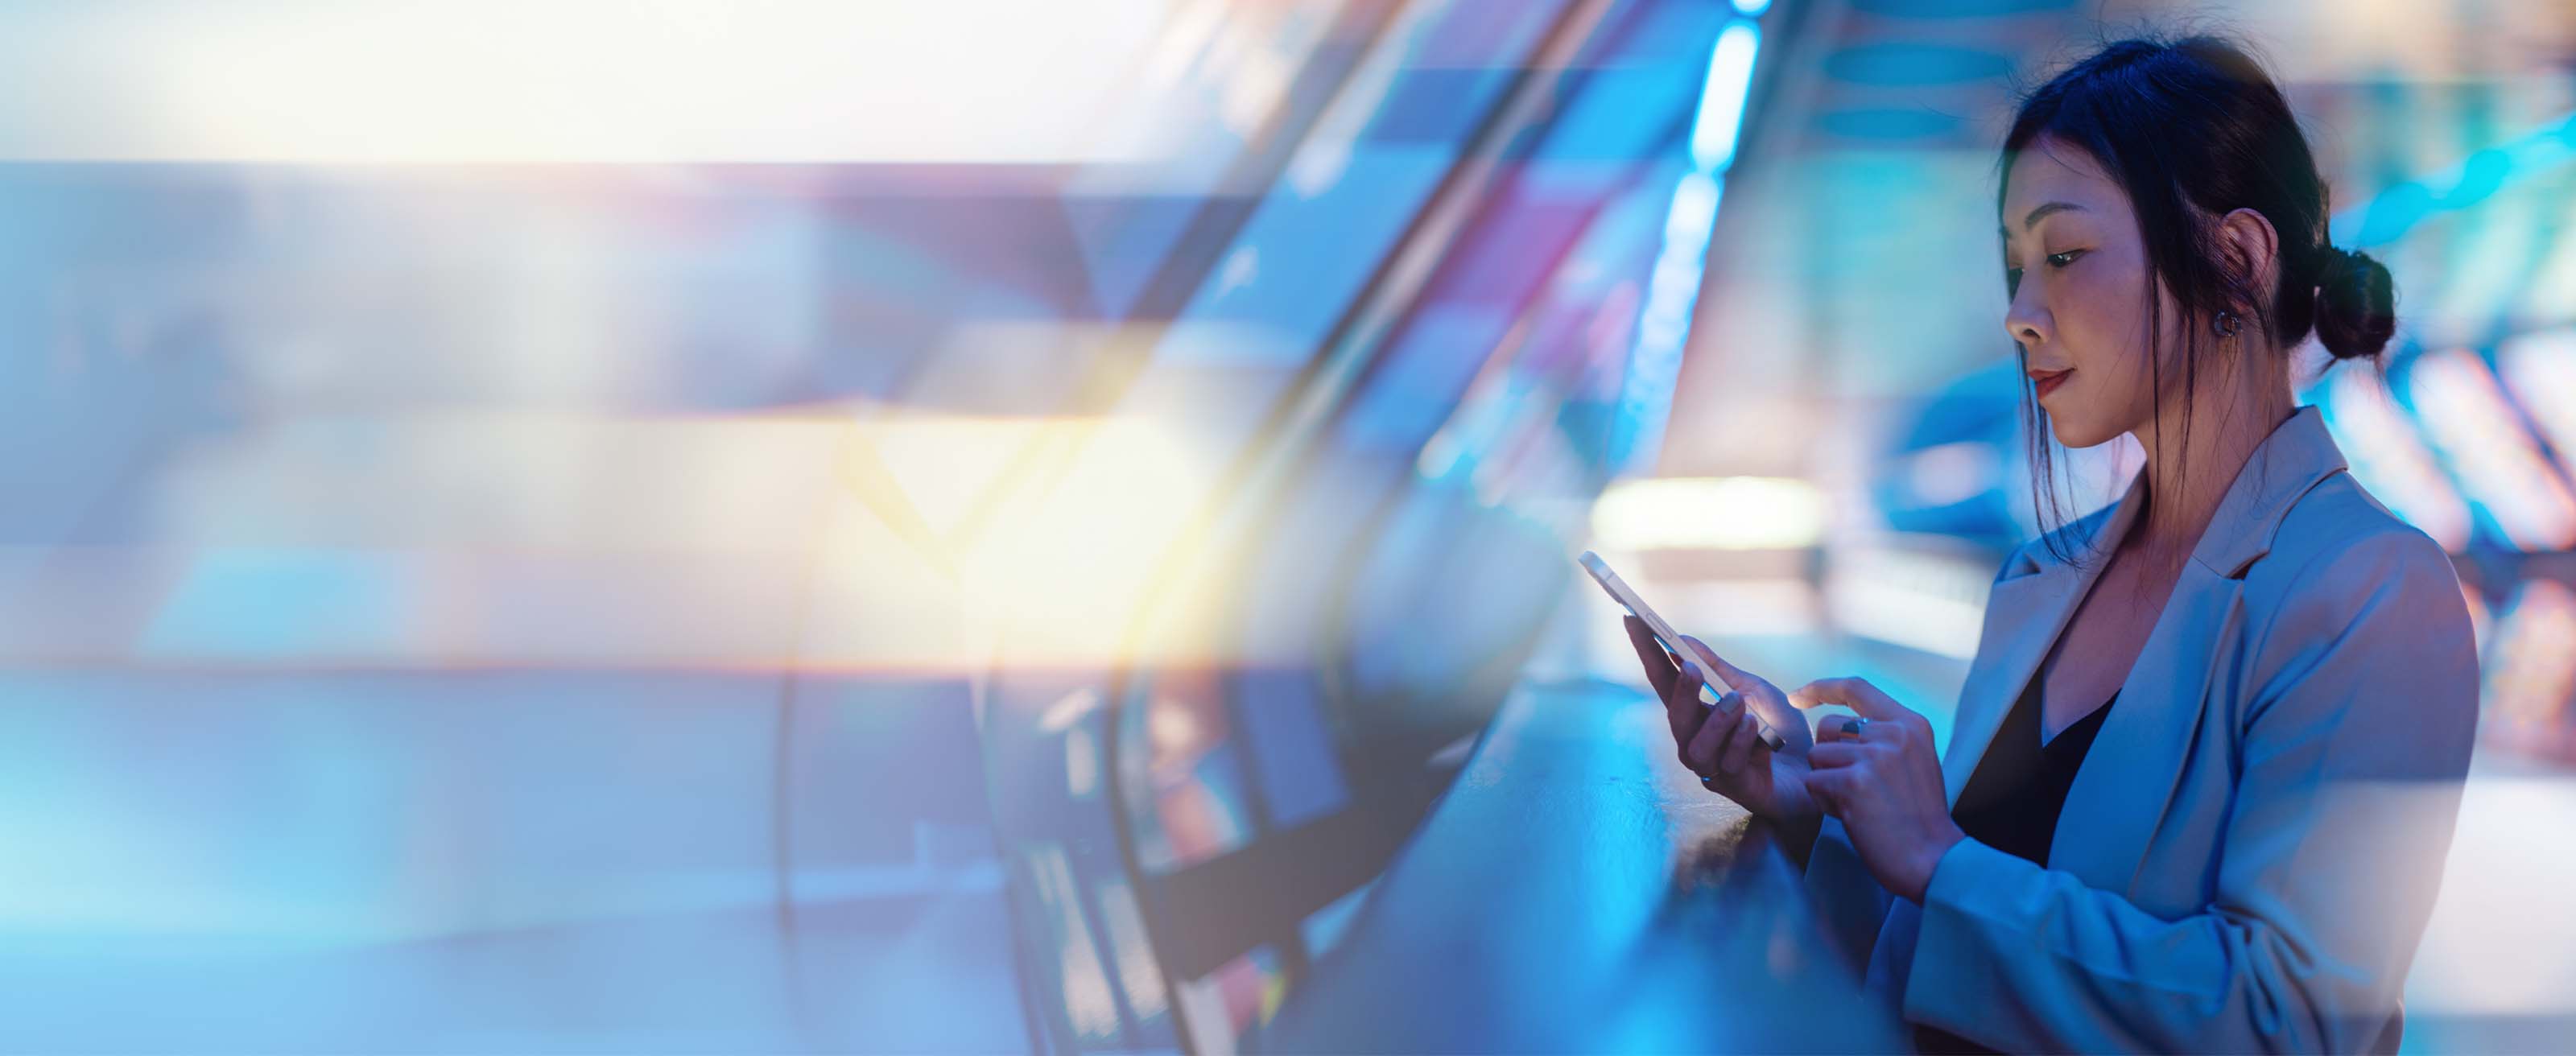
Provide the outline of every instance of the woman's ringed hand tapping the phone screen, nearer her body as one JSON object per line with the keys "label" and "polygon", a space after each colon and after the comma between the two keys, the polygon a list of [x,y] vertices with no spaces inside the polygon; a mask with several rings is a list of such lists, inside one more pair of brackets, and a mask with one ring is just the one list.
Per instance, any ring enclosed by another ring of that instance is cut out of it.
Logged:
{"label": "woman's ringed hand tapping the phone screen, nearer her body", "polygon": [[1839,703],[1865,719],[1857,737],[1842,731],[1847,719],[1824,721],[1808,755],[1808,791],[1842,819],[1880,886],[1922,901],[1940,855],[1968,840],[1950,822],[1932,724],[1857,677],[1806,683],[1788,701],[1801,708]]}

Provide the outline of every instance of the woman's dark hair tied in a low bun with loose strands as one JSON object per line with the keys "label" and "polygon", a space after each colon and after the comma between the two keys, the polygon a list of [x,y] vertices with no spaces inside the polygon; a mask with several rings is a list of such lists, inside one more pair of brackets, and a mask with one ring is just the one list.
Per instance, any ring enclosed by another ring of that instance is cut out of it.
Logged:
{"label": "woman's dark hair tied in a low bun with loose strands", "polygon": [[[2267,345],[2246,340],[2246,350],[2287,355],[2313,327],[2334,358],[2378,363],[2396,332],[2388,268],[2326,242],[2326,180],[2316,175],[2316,155],[2290,103],[2244,46],[2221,36],[2112,41],[2027,93],[2004,134],[1996,214],[2012,160],[2040,139],[2092,155],[2128,193],[2146,245],[2148,363],[2159,404],[2159,288],[2179,306],[2184,397],[2197,391],[2197,368],[2213,355],[2221,312],[2244,319],[2246,335],[2269,337]],[[2236,209],[2254,209],[2277,232],[2277,286],[2269,291],[2254,288],[2249,268],[2228,260],[2218,242],[2218,219]],[[2050,435],[2027,384],[2022,420],[2045,533],[2063,523],[2063,507],[2045,484]],[[2187,443],[2190,404],[2182,433]],[[2048,546],[2069,556],[2053,533]]]}

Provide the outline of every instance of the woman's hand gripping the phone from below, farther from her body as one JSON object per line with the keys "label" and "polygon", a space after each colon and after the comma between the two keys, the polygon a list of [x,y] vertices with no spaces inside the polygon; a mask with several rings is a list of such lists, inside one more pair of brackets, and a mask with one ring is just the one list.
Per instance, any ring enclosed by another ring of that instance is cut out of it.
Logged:
{"label": "woman's hand gripping the phone from below, farther from her body", "polygon": [[[1664,698],[1664,719],[1672,724],[1672,747],[1682,765],[1698,773],[1703,786],[1754,811],[1754,816],[1788,827],[1814,824],[1824,811],[1806,791],[1806,760],[1777,755],[1762,744],[1762,731],[1741,695],[1767,693],[1777,698],[1770,703],[1780,708],[1788,708],[1788,698],[1767,680],[1741,667],[1726,667],[1718,675],[1736,685],[1736,693],[1726,693],[1710,708],[1700,703],[1708,672],[1695,662],[1674,665],[1674,657],[1654,641],[1654,631],[1646,631],[1636,616],[1628,616],[1625,623],[1628,641],[1636,644],[1636,657],[1646,665],[1646,683]],[[1698,639],[1685,641],[1716,657],[1716,649]]]}

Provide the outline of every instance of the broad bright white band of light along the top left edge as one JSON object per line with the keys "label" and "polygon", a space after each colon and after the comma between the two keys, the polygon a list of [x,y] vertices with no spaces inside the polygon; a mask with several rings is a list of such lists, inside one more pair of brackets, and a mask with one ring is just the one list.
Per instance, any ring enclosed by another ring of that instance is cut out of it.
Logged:
{"label": "broad bright white band of light along the top left edge", "polygon": [[[1072,162],[1157,5],[245,0],[0,15],[0,157]],[[1255,70],[1242,100],[1260,106]],[[13,113],[15,108],[15,113]]]}

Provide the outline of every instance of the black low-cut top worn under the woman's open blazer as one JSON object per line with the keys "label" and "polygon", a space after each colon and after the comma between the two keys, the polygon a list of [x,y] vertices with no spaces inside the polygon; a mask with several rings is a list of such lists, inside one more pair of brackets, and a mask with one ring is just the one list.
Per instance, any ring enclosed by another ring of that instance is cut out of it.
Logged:
{"label": "black low-cut top worn under the woman's open blazer", "polygon": [[[1996,726],[1986,757],[1976,762],[1968,786],[1958,791],[1950,819],[1968,840],[2048,868],[2048,845],[2058,834],[2058,811],[2066,809],[2066,791],[2092,752],[2102,716],[2120,701],[2112,693],[2089,716],[2076,719],[2048,744],[2040,744],[2040,677],[2032,675],[2022,698],[2014,701],[2004,724]],[[1924,1053],[1991,1053],[1947,1030],[1914,1028],[1914,1048]]]}

